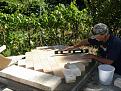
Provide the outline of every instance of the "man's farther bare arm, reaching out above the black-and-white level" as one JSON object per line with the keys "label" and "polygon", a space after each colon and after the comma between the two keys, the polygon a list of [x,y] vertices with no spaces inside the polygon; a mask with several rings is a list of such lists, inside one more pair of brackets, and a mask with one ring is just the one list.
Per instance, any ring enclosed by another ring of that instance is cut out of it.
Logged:
{"label": "man's farther bare arm, reaching out above the black-and-white level", "polygon": [[63,50],[73,50],[73,49],[76,49],[76,48],[81,47],[81,46],[89,46],[89,45],[90,45],[90,43],[88,42],[88,39],[83,39],[83,40],[81,40],[80,43],[78,43],[74,46],[67,47]]}

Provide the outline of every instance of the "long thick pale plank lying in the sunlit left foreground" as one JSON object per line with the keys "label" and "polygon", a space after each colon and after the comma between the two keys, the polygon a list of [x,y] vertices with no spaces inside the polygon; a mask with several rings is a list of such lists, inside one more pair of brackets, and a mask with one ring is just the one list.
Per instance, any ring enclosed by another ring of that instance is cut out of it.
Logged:
{"label": "long thick pale plank lying in the sunlit left foreground", "polygon": [[53,91],[61,83],[60,77],[18,66],[3,69],[0,76],[46,91]]}

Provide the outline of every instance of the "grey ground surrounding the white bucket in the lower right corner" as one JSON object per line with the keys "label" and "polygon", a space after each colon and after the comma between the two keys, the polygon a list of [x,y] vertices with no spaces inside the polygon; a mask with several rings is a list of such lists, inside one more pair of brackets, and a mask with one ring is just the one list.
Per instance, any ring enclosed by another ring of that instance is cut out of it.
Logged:
{"label": "grey ground surrounding the white bucket in the lower right corner", "polygon": [[90,74],[90,77],[86,81],[83,89],[81,89],[80,91],[121,91],[121,88],[113,85],[116,78],[121,78],[121,76],[114,74],[113,82],[111,85],[102,85],[99,82],[98,70],[95,69],[93,73]]}

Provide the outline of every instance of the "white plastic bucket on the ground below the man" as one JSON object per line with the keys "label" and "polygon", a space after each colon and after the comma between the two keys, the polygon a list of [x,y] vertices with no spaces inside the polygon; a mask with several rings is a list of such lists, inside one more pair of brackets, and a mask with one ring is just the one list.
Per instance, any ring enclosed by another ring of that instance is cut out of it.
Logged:
{"label": "white plastic bucket on the ground below the man", "polygon": [[110,85],[113,80],[115,68],[111,65],[103,64],[98,66],[99,80],[103,85]]}

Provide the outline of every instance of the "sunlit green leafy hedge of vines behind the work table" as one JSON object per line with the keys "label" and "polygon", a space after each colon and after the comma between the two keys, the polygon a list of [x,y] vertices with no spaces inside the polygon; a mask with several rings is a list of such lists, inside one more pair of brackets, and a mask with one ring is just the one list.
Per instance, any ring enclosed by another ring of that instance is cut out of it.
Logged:
{"label": "sunlit green leafy hedge of vines behind the work table", "polygon": [[79,11],[73,2],[50,9],[40,1],[6,0],[7,7],[15,5],[16,10],[0,11],[0,44],[7,45],[4,55],[24,54],[37,46],[71,45],[88,36],[92,18],[87,9]]}

